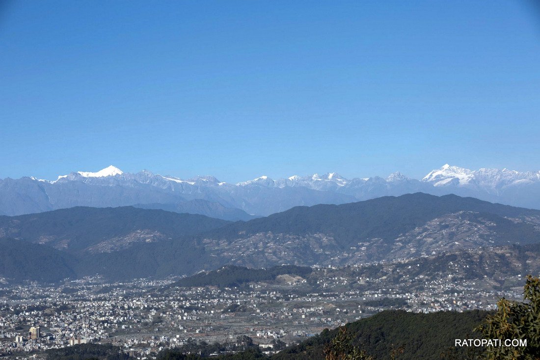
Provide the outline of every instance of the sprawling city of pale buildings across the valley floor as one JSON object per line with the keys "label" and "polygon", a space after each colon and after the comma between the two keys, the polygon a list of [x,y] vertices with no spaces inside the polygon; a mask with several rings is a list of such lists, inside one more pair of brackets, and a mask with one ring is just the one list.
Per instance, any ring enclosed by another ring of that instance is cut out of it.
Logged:
{"label": "sprawling city of pale buildings across the valley floor", "polygon": [[[452,259],[312,267],[303,276],[282,274],[232,287],[177,286],[178,279],[110,283],[100,277],[60,286],[4,284],[0,354],[44,358],[47,349],[111,343],[144,359],[190,342],[234,345],[246,339],[272,354],[383,309],[489,310],[500,297],[521,298],[519,269],[498,287],[500,279],[471,273],[465,256]],[[441,263],[444,268],[434,272]]]}

